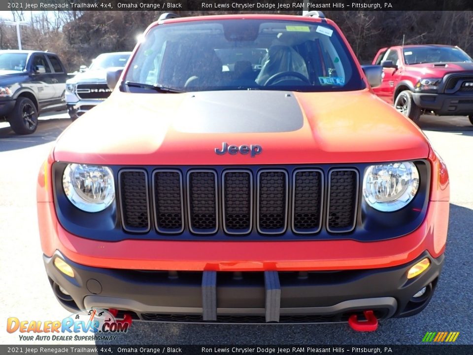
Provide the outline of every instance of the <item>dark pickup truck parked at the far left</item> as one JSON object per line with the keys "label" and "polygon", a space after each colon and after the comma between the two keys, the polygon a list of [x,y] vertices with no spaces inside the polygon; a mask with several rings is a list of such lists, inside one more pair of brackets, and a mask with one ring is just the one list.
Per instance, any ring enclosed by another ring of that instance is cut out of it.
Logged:
{"label": "dark pickup truck parked at the far left", "polygon": [[66,109],[68,74],[54,53],[0,50],[0,119],[17,134],[31,134],[38,115]]}

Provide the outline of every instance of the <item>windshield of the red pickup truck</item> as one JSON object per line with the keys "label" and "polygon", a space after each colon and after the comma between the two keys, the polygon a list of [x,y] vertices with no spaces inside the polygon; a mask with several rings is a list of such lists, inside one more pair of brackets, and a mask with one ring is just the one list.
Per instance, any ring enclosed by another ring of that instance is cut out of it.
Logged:
{"label": "windshield of the red pickup truck", "polygon": [[472,59],[456,47],[410,47],[404,49],[405,64],[472,62]]}

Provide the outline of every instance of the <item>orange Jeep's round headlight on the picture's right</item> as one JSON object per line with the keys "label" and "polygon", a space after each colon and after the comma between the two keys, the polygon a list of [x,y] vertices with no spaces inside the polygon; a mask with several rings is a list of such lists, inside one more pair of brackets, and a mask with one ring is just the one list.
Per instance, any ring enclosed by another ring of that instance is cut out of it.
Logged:
{"label": "orange Jeep's round headlight on the picture's right", "polygon": [[368,167],[363,178],[363,196],[372,208],[394,212],[405,207],[419,188],[419,172],[410,162]]}

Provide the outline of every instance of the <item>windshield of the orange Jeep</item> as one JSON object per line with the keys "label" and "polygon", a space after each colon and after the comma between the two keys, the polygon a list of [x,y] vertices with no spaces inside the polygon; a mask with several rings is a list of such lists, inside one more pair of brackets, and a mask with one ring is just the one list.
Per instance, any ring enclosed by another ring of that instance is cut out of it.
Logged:
{"label": "windshield of the orange Jeep", "polygon": [[347,91],[365,88],[338,32],[328,24],[205,20],[154,27],[129,65],[138,83],[176,91]]}

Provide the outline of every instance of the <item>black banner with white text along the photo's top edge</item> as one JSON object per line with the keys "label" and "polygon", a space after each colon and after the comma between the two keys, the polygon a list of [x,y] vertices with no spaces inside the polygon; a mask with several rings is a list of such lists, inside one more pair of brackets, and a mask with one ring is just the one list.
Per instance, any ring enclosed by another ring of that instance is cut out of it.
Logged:
{"label": "black banner with white text along the photo's top edge", "polygon": [[33,11],[399,11],[472,10],[471,0],[23,0],[1,1],[0,10]]}

